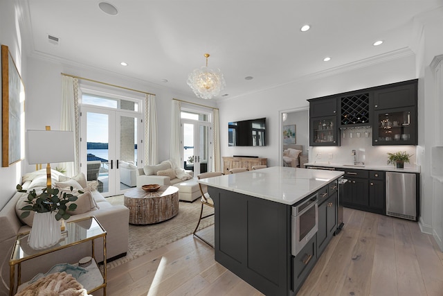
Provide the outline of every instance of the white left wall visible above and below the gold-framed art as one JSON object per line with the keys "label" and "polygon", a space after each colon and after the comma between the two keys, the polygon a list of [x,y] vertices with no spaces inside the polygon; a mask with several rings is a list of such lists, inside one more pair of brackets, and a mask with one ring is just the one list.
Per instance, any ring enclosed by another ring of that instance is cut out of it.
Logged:
{"label": "white left wall visible above and below the gold-framed art", "polygon": [[[24,65],[24,59],[21,58],[24,49],[22,49],[21,46],[21,29],[18,25],[19,12],[15,9],[15,1],[0,0],[0,5],[0,44],[9,47],[12,59],[15,61],[21,79],[24,81],[26,87],[27,80],[24,71],[26,67]],[[8,168],[0,168],[0,209],[2,209],[6,202],[14,195],[15,185],[21,183],[22,164],[23,162],[17,162]]]}

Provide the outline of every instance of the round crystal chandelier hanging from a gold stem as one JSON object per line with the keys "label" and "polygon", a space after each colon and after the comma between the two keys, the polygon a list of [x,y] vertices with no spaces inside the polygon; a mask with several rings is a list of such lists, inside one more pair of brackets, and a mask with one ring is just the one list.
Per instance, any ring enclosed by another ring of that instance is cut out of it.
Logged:
{"label": "round crystal chandelier hanging from a gold stem", "polygon": [[205,57],[206,67],[192,71],[188,76],[188,85],[199,98],[213,98],[226,84],[219,69],[208,68],[209,53],[205,53]]}

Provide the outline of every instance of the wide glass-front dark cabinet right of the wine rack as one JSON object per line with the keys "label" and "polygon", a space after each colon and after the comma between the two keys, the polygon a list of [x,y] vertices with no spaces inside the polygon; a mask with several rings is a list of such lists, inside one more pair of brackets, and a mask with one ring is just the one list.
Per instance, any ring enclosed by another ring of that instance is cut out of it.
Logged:
{"label": "wide glass-front dark cabinet right of the wine rack", "polygon": [[372,145],[417,145],[415,107],[393,108],[374,112]]}

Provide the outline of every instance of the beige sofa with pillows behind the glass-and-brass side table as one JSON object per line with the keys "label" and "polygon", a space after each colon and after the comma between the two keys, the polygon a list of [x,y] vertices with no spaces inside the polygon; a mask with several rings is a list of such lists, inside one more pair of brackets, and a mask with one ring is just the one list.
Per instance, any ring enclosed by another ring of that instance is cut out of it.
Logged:
{"label": "beige sofa with pillows behind the glass-and-brass side table", "polygon": [[[53,186],[63,178],[61,184],[71,184],[72,180],[78,180],[76,177],[68,178],[57,171],[51,171]],[[79,177],[81,179],[81,176]],[[73,214],[69,220],[78,220],[80,218],[95,216],[102,227],[107,231],[107,259],[118,258],[124,256],[128,249],[129,238],[129,209],[123,205],[113,206],[97,191],[94,186],[96,182],[87,182],[86,177],[82,175],[82,179],[87,183],[85,196],[89,196],[91,209],[82,214]],[[23,189],[36,189],[38,191],[46,186],[46,169],[28,173],[24,175]],[[66,181],[67,180],[67,181]],[[78,182],[77,184],[80,184]],[[86,194],[86,191],[89,193]],[[78,193],[80,194],[80,193]],[[17,202],[23,200],[27,193],[15,193],[8,203],[0,210],[0,295],[8,295],[9,289],[9,259],[12,247],[17,234],[30,231],[31,227],[19,218],[19,210],[17,210]],[[93,198],[93,201],[91,200]],[[79,197],[80,200],[80,197]],[[83,199],[82,199],[83,200]],[[80,208],[79,202],[78,209]],[[77,211],[77,210],[76,210]],[[29,217],[28,217],[29,218]],[[67,220],[67,221],[69,221]],[[97,261],[103,260],[103,252],[101,247],[102,238],[96,239],[95,256]],[[75,250],[75,252],[73,252]],[[35,259],[21,263],[21,279],[22,282],[32,279],[39,272],[47,272],[53,265],[57,263],[76,263],[85,256],[91,256],[91,244],[82,243],[75,247],[69,247],[58,250],[46,256],[40,256]]]}

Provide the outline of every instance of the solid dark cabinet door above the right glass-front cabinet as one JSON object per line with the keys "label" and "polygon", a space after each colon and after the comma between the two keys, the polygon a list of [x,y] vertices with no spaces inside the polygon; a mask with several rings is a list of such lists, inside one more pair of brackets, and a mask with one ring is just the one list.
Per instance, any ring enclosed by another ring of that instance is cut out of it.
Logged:
{"label": "solid dark cabinet door above the right glass-front cabinet", "polygon": [[374,91],[374,110],[417,105],[417,79],[386,85]]}

